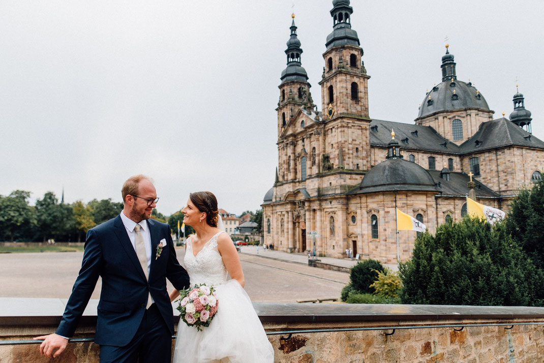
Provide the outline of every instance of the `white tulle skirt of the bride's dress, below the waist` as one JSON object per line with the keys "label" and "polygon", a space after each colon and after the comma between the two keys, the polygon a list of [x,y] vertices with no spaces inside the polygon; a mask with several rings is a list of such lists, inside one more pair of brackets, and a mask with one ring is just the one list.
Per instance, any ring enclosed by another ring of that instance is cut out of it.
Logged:
{"label": "white tulle skirt of the bride's dress, below the waist", "polygon": [[219,306],[209,327],[198,331],[180,319],[174,363],[273,362],[274,349],[242,286],[229,280],[214,287]]}

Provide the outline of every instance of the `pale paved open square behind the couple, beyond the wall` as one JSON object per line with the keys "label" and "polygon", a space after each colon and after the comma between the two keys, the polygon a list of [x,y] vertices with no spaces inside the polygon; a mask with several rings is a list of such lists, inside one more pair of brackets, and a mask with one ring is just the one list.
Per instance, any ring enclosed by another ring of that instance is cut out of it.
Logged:
{"label": "pale paved open square behind the couple, beyond the wall", "polygon": [[[176,249],[183,261],[185,251]],[[68,298],[81,267],[83,252],[0,254],[0,297]],[[240,254],[245,290],[255,302],[337,298],[349,282],[346,273],[302,263]],[[92,299],[100,297],[100,280]],[[168,282],[169,291],[172,288]]]}

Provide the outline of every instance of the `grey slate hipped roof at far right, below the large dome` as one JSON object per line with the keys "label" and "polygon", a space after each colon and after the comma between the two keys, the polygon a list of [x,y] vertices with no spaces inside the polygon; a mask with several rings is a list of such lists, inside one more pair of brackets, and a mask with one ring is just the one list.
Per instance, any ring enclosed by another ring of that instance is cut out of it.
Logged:
{"label": "grey slate hipped roof at far right, below the large dome", "polygon": [[523,130],[514,122],[500,118],[482,122],[474,136],[459,146],[459,151],[471,153],[510,145],[544,149],[544,141]]}

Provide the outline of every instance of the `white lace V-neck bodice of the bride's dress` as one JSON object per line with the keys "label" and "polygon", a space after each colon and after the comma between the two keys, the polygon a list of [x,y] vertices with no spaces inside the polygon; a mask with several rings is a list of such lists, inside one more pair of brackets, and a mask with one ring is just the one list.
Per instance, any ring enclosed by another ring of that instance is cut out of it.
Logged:
{"label": "white lace V-neck bodice of the bride's dress", "polygon": [[217,233],[206,242],[196,256],[193,254],[191,237],[187,238],[187,251],[183,262],[189,273],[191,286],[204,283],[220,285],[227,281],[227,268],[217,249],[217,238],[221,233],[223,232]]}

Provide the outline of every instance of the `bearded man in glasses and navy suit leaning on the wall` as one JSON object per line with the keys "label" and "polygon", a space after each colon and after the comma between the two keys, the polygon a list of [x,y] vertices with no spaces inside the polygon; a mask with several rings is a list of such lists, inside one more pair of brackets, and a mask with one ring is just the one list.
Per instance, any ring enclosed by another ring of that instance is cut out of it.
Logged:
{"label": "bearded man in glasses and navy suit leaning on the wall", "polygon": [[132,176],[121,193],[119,216],[87,232],[81,270],[57,331],[34,338],[44,340],[40,353],[49,358],[66,348],[101,276],[95,333],[100,361],[170,362],[174,315],[166,278],[182,290],[189,276],[176,259],[169,226],[150,219],[159,200],[152,180]]}

